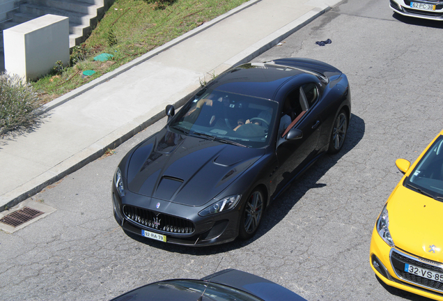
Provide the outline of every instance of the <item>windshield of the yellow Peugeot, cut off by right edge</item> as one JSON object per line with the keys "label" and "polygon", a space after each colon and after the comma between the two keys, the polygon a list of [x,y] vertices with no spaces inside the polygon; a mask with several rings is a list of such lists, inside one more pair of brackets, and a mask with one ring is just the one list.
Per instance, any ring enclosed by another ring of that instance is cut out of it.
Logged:
{"label": "windshield of the yellow Peugeot, cut off by right edge", "polygon": [[443,201],[443,136],[435,140],[404,185]]}

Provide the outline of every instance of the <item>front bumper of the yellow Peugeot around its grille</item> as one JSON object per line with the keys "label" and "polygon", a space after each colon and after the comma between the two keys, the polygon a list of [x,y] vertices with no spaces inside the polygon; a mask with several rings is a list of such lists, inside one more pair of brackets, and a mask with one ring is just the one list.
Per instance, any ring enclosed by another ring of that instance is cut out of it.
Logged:
{"label": "front bumper of the yellow Peugeot around its grille", "polygon": [[407,272],[403,272],[405,263],[423,266],[428,270],[441,272],[443,275],[443,268],[440,268],[439,263],[425,261],[424,258],[419,258],[413,254],[409,254],[396,247],[389,247],[382,238],[378,235],[377,230],[373,229],[371,238],[371,249],[369,254],[369,261],[371,268],[385,284],[394,286],[403,291],[408,291],[417,295],[422,295],[426,298],[443,301],[443,283],[437,281],[429,281],[423,277],[416,277]]}

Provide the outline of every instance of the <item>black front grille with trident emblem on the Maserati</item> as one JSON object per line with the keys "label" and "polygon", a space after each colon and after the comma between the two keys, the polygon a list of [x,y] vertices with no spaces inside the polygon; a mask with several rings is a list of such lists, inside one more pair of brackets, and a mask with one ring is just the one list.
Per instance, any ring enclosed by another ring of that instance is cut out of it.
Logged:
{"label": "black front grille with trident emblem on the Maserati", "polygon": [[189,219],[154,213],[143,208],[125,205],[123,206],[123,214],[130,221],[157,231],[178,234],[191,234],[195,231],[194,223]]}

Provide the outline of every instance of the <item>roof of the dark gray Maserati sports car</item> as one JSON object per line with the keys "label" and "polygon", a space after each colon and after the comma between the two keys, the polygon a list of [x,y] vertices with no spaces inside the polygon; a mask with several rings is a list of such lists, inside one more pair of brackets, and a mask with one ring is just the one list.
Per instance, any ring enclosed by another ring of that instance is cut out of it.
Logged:
{"label": "roof of the dark gray Maserati sports car", "polygon": [[304,73],[274,63],[247,63],[216,77],[207,88],[272,100],[284,82]]}

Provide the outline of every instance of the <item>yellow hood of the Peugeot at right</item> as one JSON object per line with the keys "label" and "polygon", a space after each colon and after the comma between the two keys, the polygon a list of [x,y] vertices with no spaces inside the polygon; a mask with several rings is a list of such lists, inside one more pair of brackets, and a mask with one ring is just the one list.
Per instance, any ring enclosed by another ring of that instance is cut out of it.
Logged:
{"label": "yellow hood of the Peugeot at right", "polygon": [[[398,185],[389,199],[389,232],[396,247],[443,262],[443,203]],[[435,246],[435,253],[430,246]]]}

